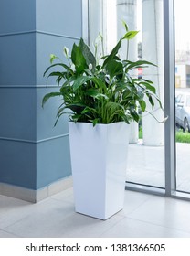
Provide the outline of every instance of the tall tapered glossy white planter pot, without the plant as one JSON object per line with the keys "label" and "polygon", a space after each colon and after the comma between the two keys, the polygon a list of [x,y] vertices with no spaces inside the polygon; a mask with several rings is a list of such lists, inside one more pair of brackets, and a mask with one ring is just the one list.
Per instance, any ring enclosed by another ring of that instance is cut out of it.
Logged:
{"label": "tall tapered glossy white planter pot, without the plant", "polygon": [[123,208],[129,127],[69,123],[76,212],[108,219]]}

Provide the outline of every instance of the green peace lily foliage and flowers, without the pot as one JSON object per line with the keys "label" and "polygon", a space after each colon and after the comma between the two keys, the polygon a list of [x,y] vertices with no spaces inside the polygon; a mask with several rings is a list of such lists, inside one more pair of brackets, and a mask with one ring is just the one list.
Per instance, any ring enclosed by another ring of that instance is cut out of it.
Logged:
{"label": "green peace lily foliage and flowers, without the pot", "polygon": [[[94,54],[81,38],[79,44],[73,44],[71,55],[69,49],[64,48],[64,55],[68,64],[57,56],[51,55],[51,65],[44,76],[56,77],[59,91],[47,93],[42,105],[51,97],[59,96],[62,103],[58,108],[55,125],[61,115],[69,115],[69,120],[75,123],[117,123],[140,120],[140,112],[146,111],[146,101],[154,106],[154,100],[161,101],[156,95],[151,80],[137,78],[131,75],[133,69],[147,68],[153,63],[146,60],[131,61],[128,59],[129,42],[138,31],[129,31],[124,23],[126,34],[121,37],[111,53],[104,55],[103,38],[100,37],[102,52],[98,56],[98,45],[95,44]],[[119,50],[124,40],[127,40],[127,56],[121,59]],[[58,60],[57,63],[53,63]],[[55,68],[58,68],[55,71]],[[49,73],[49,70],[52,70]]]}

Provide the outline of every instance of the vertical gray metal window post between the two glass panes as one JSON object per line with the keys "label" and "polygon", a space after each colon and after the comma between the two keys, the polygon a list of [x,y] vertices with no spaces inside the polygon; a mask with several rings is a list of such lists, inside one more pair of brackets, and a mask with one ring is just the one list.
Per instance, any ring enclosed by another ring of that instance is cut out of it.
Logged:
{"label": "vertical gray metal window post between the two glass panes", "polygon": [[176,184],[174,120],[174,0],[164,0],[164,109],[165,196],[174,195]]}

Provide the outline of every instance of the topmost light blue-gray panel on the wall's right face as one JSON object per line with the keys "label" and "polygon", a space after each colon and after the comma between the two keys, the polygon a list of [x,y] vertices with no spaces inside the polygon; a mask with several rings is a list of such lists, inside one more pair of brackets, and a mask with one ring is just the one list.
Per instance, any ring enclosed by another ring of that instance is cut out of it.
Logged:
{"label": "topmost light blue-gray panel on the wall's right face", "polygon": [[81,0],[37,1],[37,31],[63,37],[81,37]]}

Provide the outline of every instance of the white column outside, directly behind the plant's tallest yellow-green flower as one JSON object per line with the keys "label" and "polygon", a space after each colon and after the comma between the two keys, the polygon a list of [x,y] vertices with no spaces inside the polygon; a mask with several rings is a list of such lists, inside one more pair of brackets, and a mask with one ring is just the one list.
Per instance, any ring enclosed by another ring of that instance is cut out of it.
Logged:
{"label": "white column outside, directly behind the plant's tallest yellow-green flower", "polygon": [[[117,37],[121,38],[126,30],[122,25],[122,20],[124,20],[130,30],[137,30],[137,0],[117,0]],[[123,42],[121,48],[121,59],[126,59],[126,49],[127,42]],[[138,58],[138,48],[137,48],[137,38],[135,37],[130,42],[129,48],[129,59],[136,61]],[[133,75],[137,75],[134,73]],[[139,125],[136,122],[131,123],[131,133],[129,142],[137,143],[138,142],[138,133]]]}

